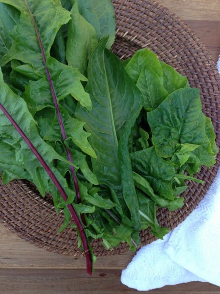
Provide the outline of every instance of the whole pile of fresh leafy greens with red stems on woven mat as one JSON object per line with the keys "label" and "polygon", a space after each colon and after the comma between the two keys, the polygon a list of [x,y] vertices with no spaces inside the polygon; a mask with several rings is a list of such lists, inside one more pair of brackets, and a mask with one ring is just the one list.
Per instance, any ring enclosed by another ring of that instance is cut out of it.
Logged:
{"label": "whole pile of fresh leafy greens with red stems on woven mat", "polygon": [[0,169],[27,179],[90,242],[140,245],[157,207],[218,152],[199,90],[148,49],[121,61],[110,0],[0,1]]}

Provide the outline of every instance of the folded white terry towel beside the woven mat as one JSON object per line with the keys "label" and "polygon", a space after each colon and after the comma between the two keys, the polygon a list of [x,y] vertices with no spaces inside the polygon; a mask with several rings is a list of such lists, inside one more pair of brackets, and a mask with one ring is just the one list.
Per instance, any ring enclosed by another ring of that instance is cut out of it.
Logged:
{"label": "folded white terry towel beside the woven mat", "polygon": [[186,220],[138,250],[121,274],[123,284],[139,291],[191,281],[220,286],[220,168]]}

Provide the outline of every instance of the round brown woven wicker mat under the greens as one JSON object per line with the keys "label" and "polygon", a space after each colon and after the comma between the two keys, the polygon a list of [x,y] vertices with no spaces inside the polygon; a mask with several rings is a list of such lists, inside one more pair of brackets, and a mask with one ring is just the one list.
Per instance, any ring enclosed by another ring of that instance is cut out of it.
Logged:
{"label": "round brown woven wicker mat under the greens", "polygon": [[[117,21],[117,36],[112,50],[120,58],[128,58],[140,48],[154,51],[164,62],[186,75],[192,87],[200,89],[203,112],[212,119],[220,146],[220,76],[210,53],[198,37],[176,15],[152,0],[113,0]],[[157,211],[162,226],[176,227],[197,206],[211,185],[218,167],[202,168],[197,177],[204,184],[188,183],[183,193],[185,205],[175,211]],[[23,180],[8,185],[0,184],[0,221],[23,239],[44,249],[66,255],[81,255],[77,236],[71,227],[58,234],[63,215],[56,215],[50,196],[42,198],[36,188]],[[149,230],[141,232],[141,245],[154,241]],[[94,242],[97,256],[118,254],[129,249],[121,244],[113,251],[106,251]]]}

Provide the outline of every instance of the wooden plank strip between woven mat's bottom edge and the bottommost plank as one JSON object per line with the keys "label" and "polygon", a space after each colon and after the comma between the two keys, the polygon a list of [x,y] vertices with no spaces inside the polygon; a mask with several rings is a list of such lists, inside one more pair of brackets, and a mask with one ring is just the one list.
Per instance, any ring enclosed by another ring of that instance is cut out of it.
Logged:
{"label": "wooden plank strip between woven mat's bottom edge and the bottommost plank", "polygon": [[[0,223],[0,268],[84,269],[86,259],[53,253],[19,238]],[[134,253],[97,257],[95,269],[124,269]]]}

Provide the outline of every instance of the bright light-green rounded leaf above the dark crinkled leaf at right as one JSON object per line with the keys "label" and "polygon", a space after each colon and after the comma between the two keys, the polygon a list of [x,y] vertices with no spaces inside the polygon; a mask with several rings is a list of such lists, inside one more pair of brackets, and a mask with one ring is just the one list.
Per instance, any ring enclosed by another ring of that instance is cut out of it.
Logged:
{"label": "bright light-green rounded leaf above the dark crinkled leaf at right", "polygon": [[148,49],[138,50],[125,68],[140,89],[147,111],[154,110],[176,89],[188,87],[186,77],[159,61],[156,54]]}

